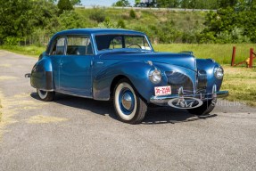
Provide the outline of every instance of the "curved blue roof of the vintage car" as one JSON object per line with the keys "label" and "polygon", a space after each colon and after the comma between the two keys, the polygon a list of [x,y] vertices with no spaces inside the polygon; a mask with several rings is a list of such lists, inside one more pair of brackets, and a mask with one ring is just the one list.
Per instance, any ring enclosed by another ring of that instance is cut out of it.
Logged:
{"label": "curved blue roof of the vintage car", "polygon": [[120,29],[120,28],[74,28],[74,29],[68,29],[63,30],[61,32],[58,32],[55,36],[60,35],[75,35],[75,34],[95,34],[95,35],[101,35],[101,34],[136,34],[136,35],[145,35],[142,32],[135,31],[135,30],[129,30],[129,29]]}

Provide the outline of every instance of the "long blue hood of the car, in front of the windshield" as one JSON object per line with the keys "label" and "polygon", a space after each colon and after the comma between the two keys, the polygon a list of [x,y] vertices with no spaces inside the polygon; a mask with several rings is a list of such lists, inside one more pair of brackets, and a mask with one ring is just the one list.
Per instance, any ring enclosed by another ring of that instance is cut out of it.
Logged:
{"label": "long blue hood of the car, in front of the windshield", "polygon": [[194,56],[188,53],[103,53],[102,60],[120,60],[120,61],[153,61],[177,65],[186,69],[194,70]]}

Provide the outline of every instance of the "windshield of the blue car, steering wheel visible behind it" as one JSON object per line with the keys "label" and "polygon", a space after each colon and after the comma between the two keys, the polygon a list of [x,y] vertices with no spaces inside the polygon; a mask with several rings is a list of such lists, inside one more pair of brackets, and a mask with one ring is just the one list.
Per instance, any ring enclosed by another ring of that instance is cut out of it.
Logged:
{"label": "windshield of the blue car, steering wheel visible behind it", "polygon": [[95,41],[98,51],[123,48],[152,50],[147,39],[138,35],[98,35]]}

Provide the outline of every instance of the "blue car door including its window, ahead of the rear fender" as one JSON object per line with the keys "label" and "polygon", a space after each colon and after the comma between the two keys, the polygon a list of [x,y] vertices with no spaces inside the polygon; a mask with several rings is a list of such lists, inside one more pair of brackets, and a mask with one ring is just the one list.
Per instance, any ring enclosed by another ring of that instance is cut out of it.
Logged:
{"label": "blue car door including its window, ahead of the rear fender", "polygon": [[93,50],[87,36],[66,37],[66,55],[62,57],[60,88],[62,92],[92,96]]}

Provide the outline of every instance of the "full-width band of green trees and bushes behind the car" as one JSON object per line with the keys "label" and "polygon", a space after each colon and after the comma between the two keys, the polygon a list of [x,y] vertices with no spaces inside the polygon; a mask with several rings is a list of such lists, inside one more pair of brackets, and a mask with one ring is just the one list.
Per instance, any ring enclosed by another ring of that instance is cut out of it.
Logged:
{"label": "full-width band of green trees and bushes behind the car", "polygon": [[81,15],[73,8],[80,4],[79,0],[0,0],[0,45],[45,45],[57,31],[95,27],[144,31],[158,43],[256,43],[255,0],[219,0],[218,3],[221,7],[217,12],[207,12],[203,28],[182,31],[174,27],[171,19],[145,26],[128,25],[132,20],[144,20],[138,19],[134,10],[130,10],[129,17],[123,15],[118,20],[108,18],[104,9],[97,8]]}

